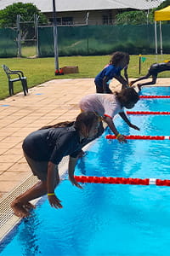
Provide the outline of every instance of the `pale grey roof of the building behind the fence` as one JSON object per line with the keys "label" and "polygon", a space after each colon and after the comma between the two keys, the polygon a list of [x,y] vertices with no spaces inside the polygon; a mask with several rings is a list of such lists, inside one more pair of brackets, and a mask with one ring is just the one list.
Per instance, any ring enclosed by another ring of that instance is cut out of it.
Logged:
{"label": "pale grey roof of the building behind the fence", "polygon": [[[0,0],[0,9],[13,3],[33,3],[42,13],[53,11],[52,0]],[[101,9],[152,9],[159,6],[162,0],[55,0],[57,12],[101,10]]]}

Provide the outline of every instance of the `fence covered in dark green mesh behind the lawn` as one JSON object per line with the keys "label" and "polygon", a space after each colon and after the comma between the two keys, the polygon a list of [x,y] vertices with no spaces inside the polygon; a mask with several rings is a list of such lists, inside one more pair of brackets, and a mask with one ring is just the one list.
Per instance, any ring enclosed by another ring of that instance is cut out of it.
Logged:
{"label": "fence covered in dark green mesh behind the lawn", "polygon": [[[159,28],[158,28],[159,29]],[[163,53],[170,53],[170,24],[162,24]],[[157,35],[158,49],[160,38]],[[0,29],[0,57],[17,55],[17,34],[12,29]],[[38,56],[54,56],[54,27],[38,27]],[[130,55],[155,54],[154,25],[127,26],[59,26],[59,56],[108,55],[116,50]],[[158,52],[159,53],[159,52]]]}

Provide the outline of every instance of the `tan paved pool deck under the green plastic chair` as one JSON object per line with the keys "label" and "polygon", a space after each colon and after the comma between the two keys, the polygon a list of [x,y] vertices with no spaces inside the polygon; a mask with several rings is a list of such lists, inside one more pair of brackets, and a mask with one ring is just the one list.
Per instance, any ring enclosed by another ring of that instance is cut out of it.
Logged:
{"label": "tan paved pool deck under the green plastic chair", "polygon": [[[157,79],[156,86],[170,86]],[[119,90],[114,79],[112,90]],[[73,120],[82,96],[95,93],[94,79],[54,79],[0,101],[0,200],[31,176],[22,153],[23,139],[43,125]]]}

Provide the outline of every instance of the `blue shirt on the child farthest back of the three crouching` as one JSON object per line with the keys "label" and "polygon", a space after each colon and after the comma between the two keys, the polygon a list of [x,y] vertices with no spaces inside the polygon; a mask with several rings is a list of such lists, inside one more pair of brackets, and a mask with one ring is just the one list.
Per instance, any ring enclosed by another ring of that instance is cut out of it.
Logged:
{"label": "blue shirt on the child farthest back of the three crouching", "polygon": [[120,76],[121,70],[122,70],[121,67],[108,65],[95,77],[95,83],[97,83],[99,86],[103,86],[103,79],[105,78],[105,76],[108,78],[108,80],[111,80],[115,76]]}

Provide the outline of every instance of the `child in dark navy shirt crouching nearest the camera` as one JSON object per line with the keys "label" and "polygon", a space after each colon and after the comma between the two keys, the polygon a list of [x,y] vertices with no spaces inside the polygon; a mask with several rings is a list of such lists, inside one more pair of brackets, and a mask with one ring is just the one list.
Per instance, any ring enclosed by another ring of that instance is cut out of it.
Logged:
{"label": "child in dark navy shirt crouching nearest the camera", "polygon": [[25,138],[22,148],[26,161],[40,181],[11,203],[16,216],[29,216],[30,210],[35,208],[30,201],[46,194],[51,207],[62,208],[54,189],[59,184],[59,162],[66,155],[70,156],[69,179],[82,189],[74,178],[75,166],[82,147],[103,133],[103,126],[99,124],[99,117],[87,111],[80,113],[75,122],[44,126]]}

